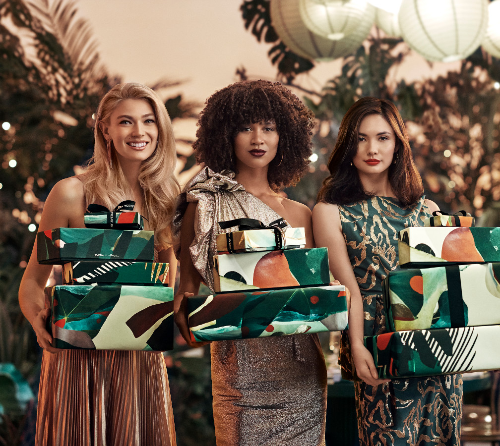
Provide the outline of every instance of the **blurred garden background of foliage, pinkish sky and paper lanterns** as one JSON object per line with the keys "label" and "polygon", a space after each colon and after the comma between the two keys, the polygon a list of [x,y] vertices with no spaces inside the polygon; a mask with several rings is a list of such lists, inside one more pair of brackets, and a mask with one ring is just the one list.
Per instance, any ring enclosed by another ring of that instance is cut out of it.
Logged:
{"label": "blurred garden background of foliage, pinkish sky and paper lanterns", "polygon": [[[137,81],[164,99],[184,184],[200,168],[191,144],[211,93],[241,79],[288,85],[317,120],[309,171],[284,191],[309,207],[345,111],[389,99],[426,196],[497,226],[499,19],[500,0],[0,0],[0,445],[33,444],[41,352],[17,290],[45,197],[82,171],[109,88]],[[176,341],[165,361],[177,444],[214,445],[209,352]],[[337,382],[336,338],[322,342]],[[348,396],[353,411],[351,390],[335,392],[329,404]]]}

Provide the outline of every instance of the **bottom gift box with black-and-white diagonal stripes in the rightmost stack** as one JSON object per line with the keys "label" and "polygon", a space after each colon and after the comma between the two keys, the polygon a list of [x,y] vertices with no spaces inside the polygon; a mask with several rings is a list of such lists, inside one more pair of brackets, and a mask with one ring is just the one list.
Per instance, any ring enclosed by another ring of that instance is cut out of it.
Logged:
{"label": "bottom gift box with black-and-white diagonal stripes in the rightmost stack", "polygon": [[408,330],[367,336],[379,378],[500,369],[500,326]]}

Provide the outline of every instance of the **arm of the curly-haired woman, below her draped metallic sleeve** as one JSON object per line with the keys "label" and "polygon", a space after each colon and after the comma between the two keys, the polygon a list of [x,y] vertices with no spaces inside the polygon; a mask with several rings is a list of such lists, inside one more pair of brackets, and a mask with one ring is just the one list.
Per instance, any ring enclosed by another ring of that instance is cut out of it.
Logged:
{"label": "arm of the curly-haired woman, below her draped metallic sleeve", "polygon": [[191,253],[189,252],[189,246],[191,246],[194,240],[194,214],[196,206],[197,203],[189,203],[182,217],[180,227],[179,288],[173,297],[173,317],[175,324],[177,324],[179,332],[186,343],[191,347],[200,347],[209,344],[207,342],[192,342],[187,323],[187,297],[197,294],[201,283],[201,275],[194,268]]}

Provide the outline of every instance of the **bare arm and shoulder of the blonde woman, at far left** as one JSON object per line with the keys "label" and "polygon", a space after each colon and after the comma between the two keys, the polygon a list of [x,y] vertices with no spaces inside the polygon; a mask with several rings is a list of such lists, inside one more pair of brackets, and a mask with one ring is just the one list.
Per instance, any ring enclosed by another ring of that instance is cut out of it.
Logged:
{"label": "bare arm and shoulder of the blonde woman, at far left", "polygon": [[[76,178],[66,178],[52,188],[43,206],[38,231],[69,226],[83,226],[84,213],[83,186]],[[33,327],[40,347],[49,352],[52,336],[45,328],[50,309],[45,309],[44,288],[52,270],[52,265],[40,265],[37,261],[36,239],[28,264],[19,286],[19,306],[22,314]]]}

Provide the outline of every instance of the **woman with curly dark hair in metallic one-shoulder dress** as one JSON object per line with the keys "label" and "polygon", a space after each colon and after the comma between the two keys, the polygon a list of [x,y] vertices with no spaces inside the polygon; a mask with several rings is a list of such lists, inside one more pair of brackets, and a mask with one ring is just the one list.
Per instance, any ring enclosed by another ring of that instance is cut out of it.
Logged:
{"label": "woman with curly dark hair in metallic one-shoulder dress", "polygon": [[[218,222],[268,225],[282,217],[304,227],[313,247],[310,210],[278,193],[304,173],[313,125],[312,113],[279,83],[238,82],[207,99],[193,145],[205,167],[181,193],[172,231],[176,322],[188,344],[184,293],[197,293],[201,281],[213,291],[216,235],[237,229],[223,231]],[[218,341],[210,350],[217,445],[324,445],[326,369],[316,335]]]}

